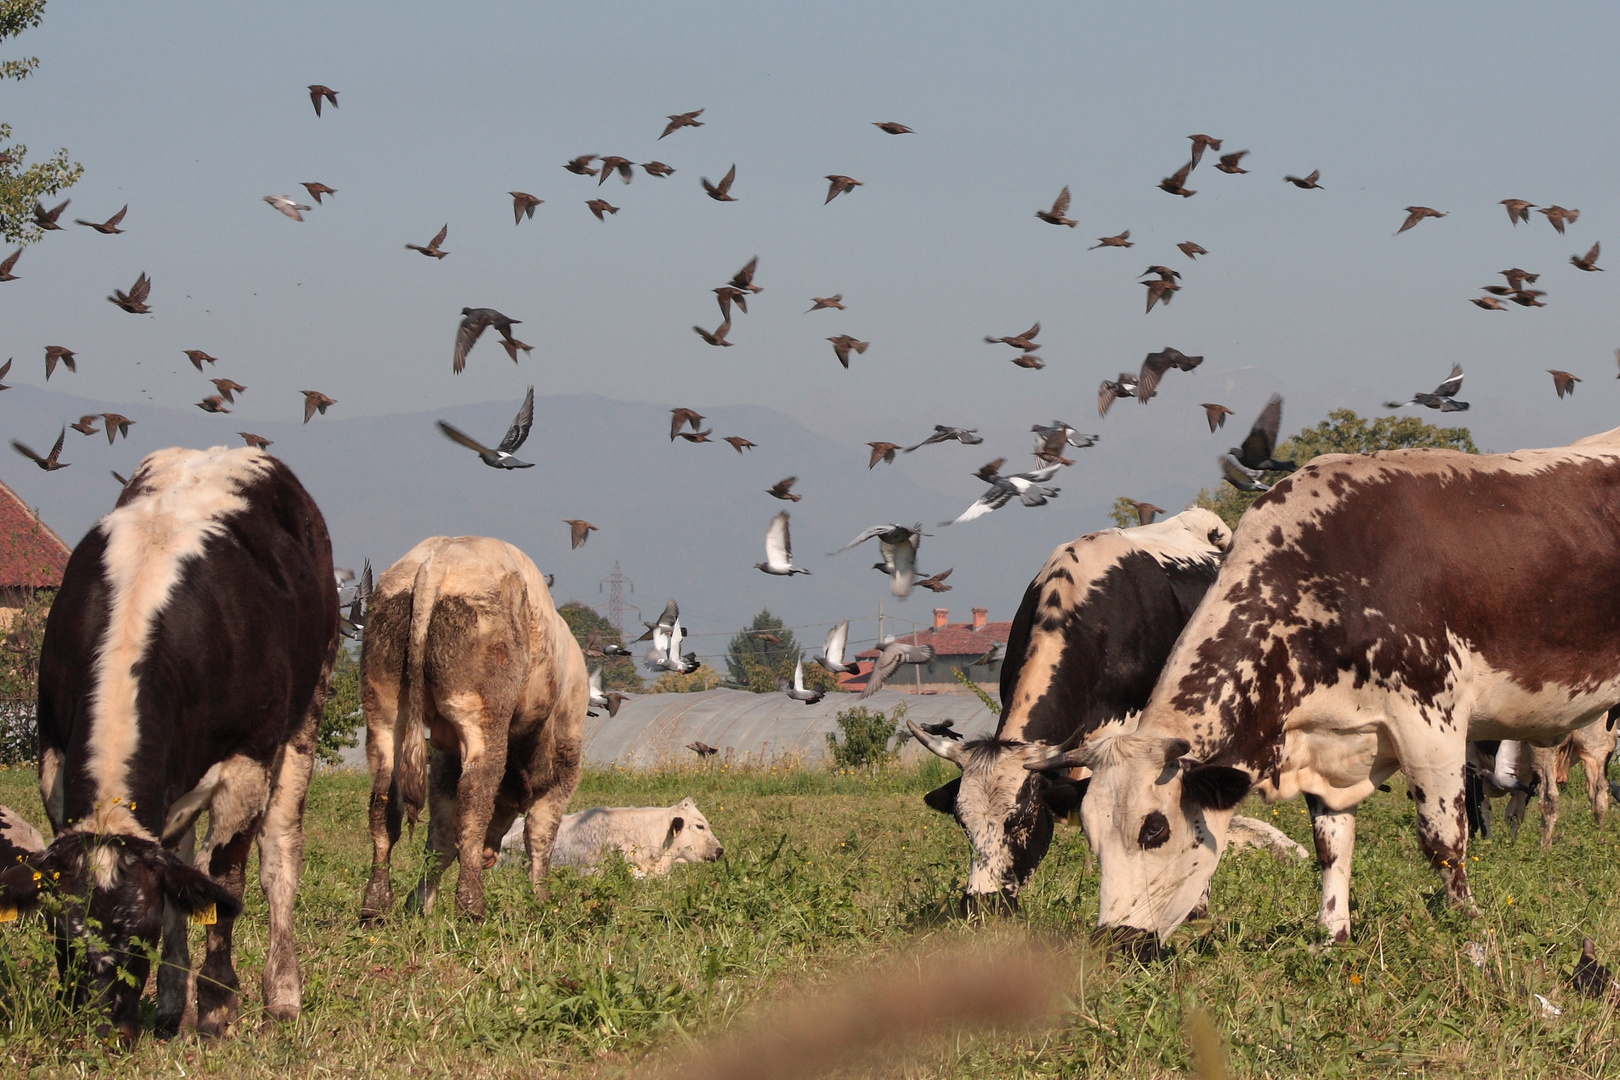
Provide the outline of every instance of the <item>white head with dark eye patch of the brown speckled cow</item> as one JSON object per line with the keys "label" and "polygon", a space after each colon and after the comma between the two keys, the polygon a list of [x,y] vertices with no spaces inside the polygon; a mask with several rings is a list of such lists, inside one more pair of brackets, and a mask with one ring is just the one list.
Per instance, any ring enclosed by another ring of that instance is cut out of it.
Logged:
{"label": "white head with dark eye patch of the brown speckled cow", "polygon": [[1092,771],[1081,818],[1102,871],[1098,926],[1162,942],[1204,897],[1252,780],[1189,750],[1184,738],[1106,733],[1029,766]]}

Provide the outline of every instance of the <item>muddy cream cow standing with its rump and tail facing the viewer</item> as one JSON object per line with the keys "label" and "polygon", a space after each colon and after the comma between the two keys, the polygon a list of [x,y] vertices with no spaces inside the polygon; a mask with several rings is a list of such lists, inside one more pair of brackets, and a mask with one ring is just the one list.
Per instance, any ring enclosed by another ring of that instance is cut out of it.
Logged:
{"label": "muddy cream cow standing with its rump and tail facing the viewer", "polygon": [[[460,860],[457,910],[483,918],[486,853],[525,814],[541,889],[580,782],[590,677],[528,555],[483,536],[433,536],[377,578],[361,646],[371,764],[371,881],[361,921],[394,907],[389,853],[428,803],[428,913]],[[433,740],[429,777],[424,740]],[[426,789],[426,790],[424,790]]]}

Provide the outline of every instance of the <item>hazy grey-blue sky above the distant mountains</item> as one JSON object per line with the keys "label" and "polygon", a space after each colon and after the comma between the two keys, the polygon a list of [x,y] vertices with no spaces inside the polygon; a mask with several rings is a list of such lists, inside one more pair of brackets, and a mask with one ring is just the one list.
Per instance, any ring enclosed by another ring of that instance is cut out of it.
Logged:
{"label": "hazy grey-blue sky above the distant mountains", "polygon": [[[31,159],[65,146],[84,164],[65,219],[130,214],[122,236],[70,225],[24,251],[21,280],[0,285],[0,356],[16,356],[11,382],[47,387],[44,347],[75,348],[79,372],[47,389],[138,418],[211,393],[181,356],[207,350],[220,356],[207,374],[249,392],[235,416],[198,413],[199,445],[233,440],[237,421],[296,421],[301,389],[339,400],[327,419],[483,402],[510,415],[530,384],[721,421],[727,406],[770,406],[857,457],[936,423],[980,427],[988,453],[953,458],[962,505],[980,460],[1029,461],[1014,455],[1032,423],[1103,436],[1111,455],[1066,474],[1102,505],[1132,494],[1110,474],[1124,463],[1134,492],[1215,483],[1213,455],[1241,431],[1209,436],[1205,400],[1246,429],[1280,392],[1294,403],[1286,434],[1333,405],[1377,415],[1453,363],[1474,408],[1445,419],[1481,447],[1562,444],[1620,415],[1620,275],[1568,264],[1614,235],[1620,99],[1604,87],[1617,23],[1604,5],[1505,3],[55,0],[40,29],[0,49],[40,58],[0,92],[0,120]],[[340,107],[318,118],[309,83],[335,87]],[[658,139],[667,113],[693,108],[701,128]],[[1249,149],[1251,173],[1205,157],[1196,196],[1158,191],[1192,133]],[[598,188],[562,170],[588,152],[677,172]],[[737,201],[703,198],[700,176],[732,164]],[[1281,180],[1312,168],[1320,191]],[[826,173],[863,186],[823,204]],[[303,223],[261,201],[308,201],[306,180],[339,194]],[[1072,230],[1034,217],[1063,186]],[[514,225],[510,189],[544,199],[533,220]],[[598,196],[620,212],[598,222],[585,207]],[[1541,215],[1511,227],[1510,196],[1581,219],[1565,236]],[[1413,204],[1448,217],[1395,236]],[[444,223],[449,257],[403,249]],[[1129,251],[1087,249],[1124,228]],[[1183,240],[1209,254],[1186,259]],[[753,256],[765,291],[735,316],[735,345],[711,348],[692,325],[716,325],[710,290]],[[1144,313],[1137,275],[1155,262],[1179,269],[1183,290]],[[1542,274],[1545,308],[1466,303],[1513,266]],[[149,317],[104,300],[139,272],[154,280]],[[847,311],[805,313],[831,293]],[[514,369],[484,340],[450,374],[463,306],[520,319],[535,351]],[[983,343],[1035,321],[1043,371]],[[872,342],[849,371],[825,340],[846,332]],[[1165,345],[1204,368],[1100,419],[1098,381]],[[1549,368],[1584,379],[1573,398],[1555,397]],[[1226,389],[1233,400],[1213,397]],[[3,398],[0,418],[37,449],[73,419]],[[548,468],[590,468],[588,445],[536,432],[530,449]],[[697,483],[729,483],[682,461]],[[1029,520],[1048,549],[1106,525]],[[701,536],[701,521],[687,526]]]}

